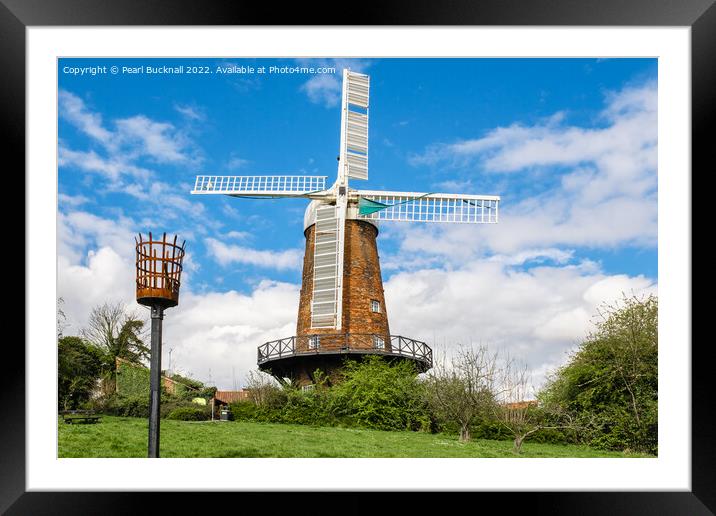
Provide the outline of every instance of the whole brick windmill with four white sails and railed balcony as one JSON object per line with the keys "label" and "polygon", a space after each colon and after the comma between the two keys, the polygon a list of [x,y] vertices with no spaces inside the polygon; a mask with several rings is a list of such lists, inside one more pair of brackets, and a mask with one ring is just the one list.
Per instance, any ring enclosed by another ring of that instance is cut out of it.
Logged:
{"label": "whole brick windmill with four white sails and railed balcony", "polygon": [[391,335],[380,273],[378,221],[496,223],[498,196],[387,192],[349,188],[368,179],[370,78],[343,71],[338,174],[325,176],[197,176],[192,194],[311,199],[304,216],[306,251],[296,335],[258,348],[258,366],[305,388],[320,369],[330,378],[346,358],[378,354],[432,367],[432,350]]}

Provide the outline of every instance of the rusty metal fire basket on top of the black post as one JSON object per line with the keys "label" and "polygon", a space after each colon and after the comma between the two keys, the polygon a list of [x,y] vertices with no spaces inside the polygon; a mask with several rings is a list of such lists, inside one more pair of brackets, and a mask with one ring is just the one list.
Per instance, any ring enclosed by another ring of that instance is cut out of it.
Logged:
{"label": "rusty metal fire basket on top of the black post", "polygon": [[179,303],[182,260],[184,246],[167,241],[167,234],[161,240],[134,239],[137,250],[137,302],[145,306],[169,308]]}

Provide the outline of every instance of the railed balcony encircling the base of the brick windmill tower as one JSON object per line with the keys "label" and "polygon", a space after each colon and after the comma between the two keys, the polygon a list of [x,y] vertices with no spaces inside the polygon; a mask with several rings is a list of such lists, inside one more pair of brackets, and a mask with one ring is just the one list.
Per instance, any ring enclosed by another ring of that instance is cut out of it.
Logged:
{"label": "railed balcony encircling the base of the brick windmill tower", "polygon": [[270,370],[280,362],[293,359],[328,355],[348,358],[367,354],[412,360],[421,373],[433,366],[433,351],[424,342],[401,335],[373,333],[297,335],[266,342],[258,347],[258,366]]}

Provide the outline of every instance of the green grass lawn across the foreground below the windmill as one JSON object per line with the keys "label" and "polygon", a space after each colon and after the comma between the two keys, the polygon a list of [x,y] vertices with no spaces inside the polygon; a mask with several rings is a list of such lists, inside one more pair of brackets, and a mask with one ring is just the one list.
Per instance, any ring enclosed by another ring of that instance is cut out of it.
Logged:
{"label": "green grass lawn across the foreground below the windmill", "polygon": [[[146,419],[102,416],[96,424],[59,419],[59,457],[146,457]],[[161,457],[518,457],[511,441],[420,432],[383,432],[244,421],[161,422]],[[586,446],[525,442],[519,457],[648,457]]]}

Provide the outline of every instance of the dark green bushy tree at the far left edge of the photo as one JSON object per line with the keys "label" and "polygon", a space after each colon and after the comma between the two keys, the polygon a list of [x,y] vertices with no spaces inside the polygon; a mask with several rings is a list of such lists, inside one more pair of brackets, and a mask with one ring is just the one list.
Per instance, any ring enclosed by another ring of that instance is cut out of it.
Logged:
{"label": "dark green bushy tree at the far left edge of the photo", "polygon": [[90,399],[102,372],[103,353],[79,337],[57,341],[58,406],[75,409]]}

